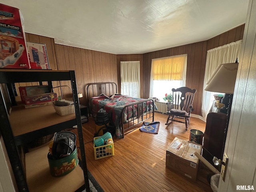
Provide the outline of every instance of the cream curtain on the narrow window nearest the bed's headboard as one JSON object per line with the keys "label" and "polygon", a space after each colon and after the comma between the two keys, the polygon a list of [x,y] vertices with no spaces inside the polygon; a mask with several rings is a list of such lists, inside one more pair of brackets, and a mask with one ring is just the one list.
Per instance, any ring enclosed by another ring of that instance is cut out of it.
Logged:
{"label": "cream curtain on the narrow window nearest the bed's headboard", "polygon": [[121,94],[140,98],[140,61],[121,61]]}

